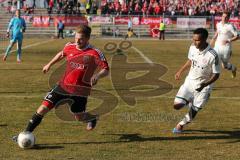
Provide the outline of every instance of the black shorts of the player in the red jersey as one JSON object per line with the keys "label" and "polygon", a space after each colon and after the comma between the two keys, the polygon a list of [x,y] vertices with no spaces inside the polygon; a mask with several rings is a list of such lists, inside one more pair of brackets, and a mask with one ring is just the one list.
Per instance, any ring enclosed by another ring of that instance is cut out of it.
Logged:
{"label": "black shorts of the player in the red jersey", "polygon": [[52,109],[68,103],[73,113],[85,112],[87,97],[75,96],[64,91],[60,86],[51,89],[44,98],[43,105]]}

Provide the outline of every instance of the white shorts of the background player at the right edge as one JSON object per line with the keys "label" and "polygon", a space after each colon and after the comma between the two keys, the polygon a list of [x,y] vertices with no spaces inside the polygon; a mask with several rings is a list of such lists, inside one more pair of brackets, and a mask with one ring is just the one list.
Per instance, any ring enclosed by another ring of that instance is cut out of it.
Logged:
{"label": "white shorts of the background player at the right edge", "polygon": [[214,50],[217,52],[219,59],[224,65],[227,65],[232,55],[232,47],[230,45],[215,46]]}

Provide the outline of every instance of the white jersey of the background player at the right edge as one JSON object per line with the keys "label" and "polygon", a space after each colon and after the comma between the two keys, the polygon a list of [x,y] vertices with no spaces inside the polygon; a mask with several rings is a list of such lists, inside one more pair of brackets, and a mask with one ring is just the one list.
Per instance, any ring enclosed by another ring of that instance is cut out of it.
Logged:
{"label": "white jersey of the background player at the right edge", "polygon": [[[217,23],[217,40],[215,45],[221,46],[225,44],[227,40],[231,39],[234,36],[238,35],[237,29],[231,24],[231,23],[225,23],[222,22]],[[226,45],[231,45],[230,43],[226,43]]]}

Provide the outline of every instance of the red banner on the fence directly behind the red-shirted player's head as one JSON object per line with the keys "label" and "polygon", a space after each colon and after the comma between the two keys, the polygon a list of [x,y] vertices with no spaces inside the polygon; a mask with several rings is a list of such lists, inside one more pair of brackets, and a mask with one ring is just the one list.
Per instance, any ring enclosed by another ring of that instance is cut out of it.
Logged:
{"label": "red banner on the fence directly behind the red-shirted player's head", "polygon": [[57,26],[57,23],[59,20],[62,20],[65,26],[69,27],[75,27],[80,24],[88,24],[88,21],[85,17],[74,17],[74,16],[59,16],[59,17],[54,17],[54,26]]}

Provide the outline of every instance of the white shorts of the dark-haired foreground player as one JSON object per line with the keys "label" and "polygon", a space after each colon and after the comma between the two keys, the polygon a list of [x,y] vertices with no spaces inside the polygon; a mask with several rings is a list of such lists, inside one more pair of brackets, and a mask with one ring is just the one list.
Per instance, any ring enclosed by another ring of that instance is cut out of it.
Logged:
{"label": "white shorts of the dark-haired foreground player", "polygon": [[210,93],[212,91],[212,86],[206,86],[201,92],[196,91],[198,88],[196,81],[185,80],[184,84],[178,90],[175,97],[174,103],[187,104],[192,103],[197,109],[201,109],[208,101]]}

